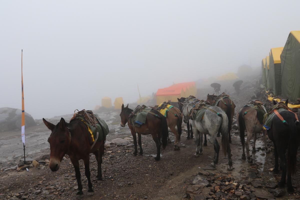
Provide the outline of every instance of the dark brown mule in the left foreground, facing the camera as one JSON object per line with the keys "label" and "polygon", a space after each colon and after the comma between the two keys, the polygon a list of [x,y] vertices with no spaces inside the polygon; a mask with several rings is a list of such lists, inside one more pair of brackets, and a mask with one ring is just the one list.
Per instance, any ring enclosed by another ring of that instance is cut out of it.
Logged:
{"label": "dark brown mule in the left foreground, facing the camera", "polygon": [[90,173],[90,153],[95,154],[96,160],[98,162],[98,174],[96,180],[102,180],[101,163],[102,156],[104,154],[104,141],[96,142],[94,147],[91,149],[91,145],[88,137],[90,133],[88,132],[87,126],[80,120],[74,119],[70,123],[66,123],[64,118],[54,125],[46,121],[43,118],[44,124],[52,132],[48,138],[50,144],[50,162],[49,168],[52,172],[56,172],[59,169],[60,162],[64,155],[67,154],[75,169],[76,180],[78,184],[78,192],[76,194],[76,199],[81,199],[83,197],[82,184],[80,179],[80,169],[79,160],[83,160],[85,168],[85,176],[88,179],[88,196],[94,194],[91,183],[91,173]]}

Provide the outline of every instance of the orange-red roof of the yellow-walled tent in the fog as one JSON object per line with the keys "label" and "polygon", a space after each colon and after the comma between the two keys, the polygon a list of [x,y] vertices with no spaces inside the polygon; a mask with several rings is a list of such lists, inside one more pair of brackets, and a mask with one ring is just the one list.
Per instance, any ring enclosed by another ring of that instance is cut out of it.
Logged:
{"label": "orange-red roof of the yellow-walled tent in the fog", "polygon": [[158,89],[156,96],[175,96],[181,94],[181,91],[186,91],[187,88],[195,86],[195,82],[184,82],[171,85],[167,88]]}

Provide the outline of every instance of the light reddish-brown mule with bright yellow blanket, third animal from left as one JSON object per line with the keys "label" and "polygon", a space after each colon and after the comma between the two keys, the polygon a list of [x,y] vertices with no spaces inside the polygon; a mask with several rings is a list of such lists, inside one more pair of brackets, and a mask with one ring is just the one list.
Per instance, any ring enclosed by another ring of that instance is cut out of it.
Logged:
{"label": "light reddish-brown mule with bright yellow blanket, third animal from left", "polygon": [[[157,109],[158,106],[149,106],[150,108]],[[179,111],[178,108],[172,107],[169,109],[167,114],[167,124],[170,128],[171,132],[175,136],[175,143],[174,143],[174,150],[180,150],[180,136],[182,133],[182,113]],[[177,126],[177,130],[176,127]]]}

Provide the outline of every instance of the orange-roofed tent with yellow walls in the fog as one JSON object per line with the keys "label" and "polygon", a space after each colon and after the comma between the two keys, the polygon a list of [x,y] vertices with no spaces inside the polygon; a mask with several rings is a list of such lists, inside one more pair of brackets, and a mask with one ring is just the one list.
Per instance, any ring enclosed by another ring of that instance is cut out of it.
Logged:
{"label": "orange-roofed tent with yellow walls in the fog", "polygon": [[168,88],[158,89],[156,92],[156,103],[159,105],[168,100],[177,102],[177,98],[188,97],[190,95],[196,96],[196,91],[195,82],[174,84]]}

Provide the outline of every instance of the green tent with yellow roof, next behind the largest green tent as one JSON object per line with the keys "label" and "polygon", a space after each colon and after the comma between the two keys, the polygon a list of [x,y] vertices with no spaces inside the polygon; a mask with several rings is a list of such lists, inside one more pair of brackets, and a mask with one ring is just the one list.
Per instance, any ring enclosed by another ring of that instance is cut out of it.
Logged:
{"label": "green tent with yellow roof, next behind the largest green tent", "polygon": [[272,48],[270,56],[270,90],[273,91],[275,95],[281,94],[281,61],[280,55],[283,47]]}

